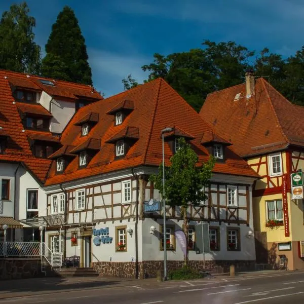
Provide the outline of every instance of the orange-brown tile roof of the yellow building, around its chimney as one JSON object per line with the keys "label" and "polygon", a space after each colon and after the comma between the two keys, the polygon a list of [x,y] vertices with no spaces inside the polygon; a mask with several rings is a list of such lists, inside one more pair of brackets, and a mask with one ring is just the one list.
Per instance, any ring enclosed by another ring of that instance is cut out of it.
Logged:
{"label": "orange-brown tile roof of the yellow building, around its chimney", "polygon": [[[235,100],[236,94],[240,98]],[[289,144],[304,147],[304,107],[292,104],[267,81],[255,82],[247,99],[245,84],[211,93],[200,116],[233,143],[242,157],[265,154]]]}

